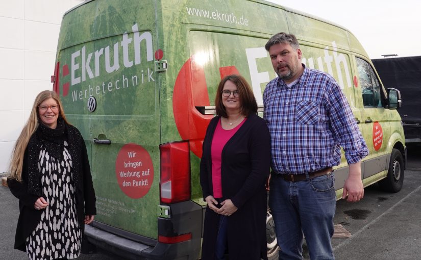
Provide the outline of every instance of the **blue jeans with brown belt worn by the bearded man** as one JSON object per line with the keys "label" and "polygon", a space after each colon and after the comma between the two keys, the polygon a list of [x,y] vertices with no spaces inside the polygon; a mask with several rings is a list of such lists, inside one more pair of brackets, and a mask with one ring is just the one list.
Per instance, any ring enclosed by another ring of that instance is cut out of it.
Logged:
{"label": "blue jeans with brown belt worn by the bearded man", "polygon": [[281,248],[279,259],[303,259],[303,235],[310,258],[335,259],[331,238],[336,196],[333,173],[301,181],[270,176],[269,207]]}

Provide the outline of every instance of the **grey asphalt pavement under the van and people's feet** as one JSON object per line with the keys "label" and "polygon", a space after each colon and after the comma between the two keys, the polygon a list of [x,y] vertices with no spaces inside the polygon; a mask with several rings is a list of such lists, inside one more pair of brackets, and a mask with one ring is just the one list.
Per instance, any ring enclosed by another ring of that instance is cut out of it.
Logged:
{"label": "grey asphalt pavement under the van and people's feet", "polygon": [[[364,198],[355,203],[337,201],[335,224],[351,233],[350,238],[334,238],[337,260],[421,259],[421,147],[408,148],[404,185],[398,193],[365,188]],[[6,187],[0,187],[0,259],[28,259],[14,250],[18,201]],[[120,259],[109,253],[81,255],[81,260]],[[305,254],[305,259],[310,259]]]}

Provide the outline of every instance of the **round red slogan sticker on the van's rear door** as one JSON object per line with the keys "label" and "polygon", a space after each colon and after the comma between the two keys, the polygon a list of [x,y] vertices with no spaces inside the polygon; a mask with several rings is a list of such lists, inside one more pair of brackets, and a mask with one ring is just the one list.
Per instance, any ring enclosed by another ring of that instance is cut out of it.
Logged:
{"label": "round red slogan sticker on the van's rear door", "polygon": [[154,180],[151,155],[140,145],[124,145],[117,155],[115,174],[122,192],[134,199],[143,197]]}

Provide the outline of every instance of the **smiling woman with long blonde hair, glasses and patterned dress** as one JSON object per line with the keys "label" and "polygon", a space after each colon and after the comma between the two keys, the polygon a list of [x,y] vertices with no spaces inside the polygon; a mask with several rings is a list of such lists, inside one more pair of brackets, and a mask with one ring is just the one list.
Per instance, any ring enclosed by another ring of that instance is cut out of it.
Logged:
{"label": "smiling woman with long blonde hair, glasses and patterned dress", "polygon": [[80,255],[84,224],[96,214],[86,146],[56,92],[37,95],[16,141],[8,186],[19,199],[15,249],[29,259]]}

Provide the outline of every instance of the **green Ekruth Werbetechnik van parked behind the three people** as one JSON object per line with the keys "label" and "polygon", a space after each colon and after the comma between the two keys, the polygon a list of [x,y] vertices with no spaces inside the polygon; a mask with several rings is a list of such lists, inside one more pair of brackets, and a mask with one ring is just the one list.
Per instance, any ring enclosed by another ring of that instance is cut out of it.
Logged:
{"label": "green Ekruth Werbetechnik van parked behind the three people", "polygon": [[[206,204],[199,163],[221,77],[262,93],[276,74],[264,44],[288,32],[303,63],[335,77],[369,155],[364,186],[391,192],[406,159],[397,89],[386,89],[355,36],[260,0],[87,0],[63,16],[53,88],[88,149],[97,215],[90,243],[129,259],[198,259]],[[348,166],[335,167],[339,199]],[[244,227],[247,228],[247,227]],[[270,209],[267,253],[279,250]]]}

